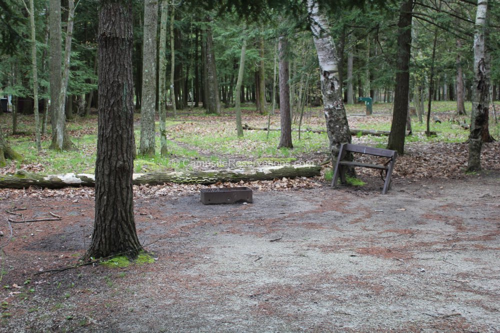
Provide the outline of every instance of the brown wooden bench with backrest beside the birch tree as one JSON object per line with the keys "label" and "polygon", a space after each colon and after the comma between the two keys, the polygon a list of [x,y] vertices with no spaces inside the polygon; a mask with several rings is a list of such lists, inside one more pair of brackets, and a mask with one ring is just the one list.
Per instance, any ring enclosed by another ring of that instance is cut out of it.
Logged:
{"label": "brown wooden bench with backrest beside the birch tree", "polygon": [[[349,151],[361,154],[387,157],[389,158],[389,160],[382,165],[344,160],[345,155]],[[394,162],[396,161],[396,157],[397,157],[397,151],[395,150],[367,147],[359,144],[342,143],[342,145],[340,146],[340,151],[338,152],[337,163],[335,165],[335,171],[333,172],[333,179],[331,179],[331,186],[335,186],[337,184],[337,179],[339,175],[340,175],[340,182],[342,184],[345,183],[345,170],[348,166],[370,167],[373,169],[379,169],[381,170],[381,172],[385,170],[385,181],[383,184],[382,194],[386,194],[387,190],[390,187],[390,176],[392,174],[392,169],[394,168]]]}

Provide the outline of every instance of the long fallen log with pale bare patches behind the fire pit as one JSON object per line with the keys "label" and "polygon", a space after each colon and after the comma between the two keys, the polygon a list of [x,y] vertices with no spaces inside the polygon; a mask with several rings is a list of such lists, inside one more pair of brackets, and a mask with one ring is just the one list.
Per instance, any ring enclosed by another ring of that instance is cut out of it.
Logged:
{"label": "long fallen log with pale bare patches behind the fire pit", "polygon": [[[255,168],[240,167],[205,171],[171,171],[134,173],[133,184],[158,185],[166,182],[189,184],[213,184],[219,181],[254,181],[274,178],[313,177],[320,174],[319,165],[270,165]],[[18,170],[15,174],[0,175],[0,188],[62,188],[67,186],[94,186],[95,178],[90,173],[66,173],[42,175]]]}

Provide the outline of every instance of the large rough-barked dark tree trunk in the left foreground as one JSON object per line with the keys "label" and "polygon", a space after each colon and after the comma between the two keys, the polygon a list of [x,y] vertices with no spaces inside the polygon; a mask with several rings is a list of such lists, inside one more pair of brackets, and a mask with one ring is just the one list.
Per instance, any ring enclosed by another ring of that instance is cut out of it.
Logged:
{"label": "large rough-barked dark tree trunk in the left foreground", "polygon": [[[99,9],[99,122],[95,161],[95,219],[86,258],[141,247],[133,215],[132,1],[101,0]],[[155,44],[156,45],[156,44]]]}

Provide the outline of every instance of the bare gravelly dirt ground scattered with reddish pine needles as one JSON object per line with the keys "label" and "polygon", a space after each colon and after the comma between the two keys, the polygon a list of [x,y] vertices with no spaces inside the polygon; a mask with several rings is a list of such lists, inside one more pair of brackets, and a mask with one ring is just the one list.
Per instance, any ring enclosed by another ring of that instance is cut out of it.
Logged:
{"label": "bare gravelly dirt ground scattered with reddish pine needles", "polygon": [[12,224],[0,331],[500,331],[500,171],[380,185],[136,198],[154,263],[56,273],[90,243],[92,198],[11,191],[2,220],[62,220]]}

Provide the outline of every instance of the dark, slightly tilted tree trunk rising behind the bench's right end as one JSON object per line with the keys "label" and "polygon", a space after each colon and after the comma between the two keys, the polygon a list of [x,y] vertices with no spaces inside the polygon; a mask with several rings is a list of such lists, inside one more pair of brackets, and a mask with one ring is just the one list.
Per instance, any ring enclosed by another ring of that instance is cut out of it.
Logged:
{"label": "dark, slightly tilted tree trunk rising behind the bench's right end", "polygon": [[413,0],[404,1],[399,8],[394,110],[387,149],[404,153],[405,125],[408,113],[409,61],[411,53],[411,18]]}

